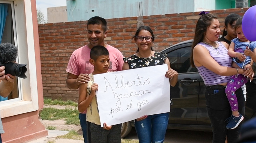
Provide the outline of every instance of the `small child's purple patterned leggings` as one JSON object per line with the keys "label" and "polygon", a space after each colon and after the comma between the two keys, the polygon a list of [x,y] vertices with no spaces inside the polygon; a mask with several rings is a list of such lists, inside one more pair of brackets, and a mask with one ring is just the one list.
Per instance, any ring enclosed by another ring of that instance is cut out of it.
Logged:
{"label": "small child's purple patterned leggings", "polygon": [[248,80],[249,78],[244,77],[242,74],[231,76],[225,89],[231,111],[238,111],[237,96],[234,92],[241,88]]}

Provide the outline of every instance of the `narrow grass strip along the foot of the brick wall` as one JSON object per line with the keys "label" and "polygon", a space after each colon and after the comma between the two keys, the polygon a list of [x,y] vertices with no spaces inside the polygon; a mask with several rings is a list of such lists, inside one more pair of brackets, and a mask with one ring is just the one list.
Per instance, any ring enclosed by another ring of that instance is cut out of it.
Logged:
{"label": "narrow grass strip along the foot of the brick wall", "polygon": [[44,104],[45,105],[62,105],[62,106],[76,106],[77,107],[77,103],[71,100],[66,100],[63,101],[61,99],[54,99],[52,100],[51,98],[44,98]]}

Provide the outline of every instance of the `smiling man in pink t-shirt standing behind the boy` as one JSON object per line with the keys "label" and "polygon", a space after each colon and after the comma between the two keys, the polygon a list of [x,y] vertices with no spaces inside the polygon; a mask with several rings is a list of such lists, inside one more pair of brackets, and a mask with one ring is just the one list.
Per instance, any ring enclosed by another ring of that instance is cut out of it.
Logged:
{"label": "smiling man in pink t-shirt standing behind the boy", "polygon": [[[123,55],[122,53],[104,43],[104,38],[106,38],[106,20],[104,18],[95,16],[91,17],[87,22],[87,38],[89,44],[76,49],[68,63],[66,72],[68,72],[66,83],[70,89],[78,89],[80,84],[85,84],[88,82],[89,74],[93,72],[94,66],[89,63],[90,50],[94,46],[104,46],[108,49],[110,53],[110,67],[111,71],[120,71],[123,67]],[[83,131],[84,142],[87,143],[87,125],[86,125],[86,110],[79,114],[80,125]]]}

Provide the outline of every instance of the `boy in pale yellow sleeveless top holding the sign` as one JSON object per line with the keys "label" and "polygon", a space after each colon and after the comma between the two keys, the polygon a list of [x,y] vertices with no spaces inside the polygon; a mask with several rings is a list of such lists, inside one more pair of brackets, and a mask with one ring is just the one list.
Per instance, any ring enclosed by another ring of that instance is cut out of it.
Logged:
{"label": "boy in pale yellow sleeveless top holding the sign", "polygon": [[94,71],[89,75],[90,81],[80,84],[78,110],[83,112],[87,109],[87,133],[88,143],[121,143],[121,124],[108,126],[100,124],[100,116],[97,104],[96,90],[98,84],[94,83],[95,74],[107,73],[109,69],[109,51],[104,46],[95,46],[90,51],[90,64]]}

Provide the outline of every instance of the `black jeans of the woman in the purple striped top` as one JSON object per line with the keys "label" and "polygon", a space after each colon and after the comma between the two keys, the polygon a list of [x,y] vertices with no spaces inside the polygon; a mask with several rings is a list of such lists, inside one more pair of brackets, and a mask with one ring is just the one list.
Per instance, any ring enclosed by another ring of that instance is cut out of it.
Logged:
{"label": "black jeans of the woman in the purple striped top", "polygon": [[[231,116],[232,112],[225,89],[221,85],[217,86],[214,85],[207,87],[205,90],[206,109],[211,121],[213,133],[212,142],[225,143],[227,137],[228,143],[234,143],[239,138],[242,123],[240,123],[237,128],[232,130],[228,130],[226,128],[227,122],[225,122],[225,120]],[[214,94],[214,90],[218,90],[218,93]],[[236,91],[236,96],[238,101],[238,112],[244,116],[245,101],[241,88]]]}

